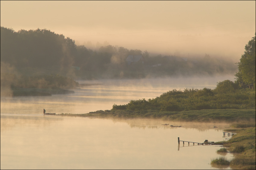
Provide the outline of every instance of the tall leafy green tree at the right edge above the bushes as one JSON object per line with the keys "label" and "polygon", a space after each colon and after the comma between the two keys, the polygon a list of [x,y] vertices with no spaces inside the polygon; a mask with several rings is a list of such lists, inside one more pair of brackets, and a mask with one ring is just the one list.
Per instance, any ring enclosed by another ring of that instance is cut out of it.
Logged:
{"label": "tall leafy green tree at the right edge above the bushes", "polygon": [[[255,32],[256,36],[256,32]],[[255,85],[255,36],[245,45],[245,52],[238,64],[238,73],[235,74],[236,81]]]}

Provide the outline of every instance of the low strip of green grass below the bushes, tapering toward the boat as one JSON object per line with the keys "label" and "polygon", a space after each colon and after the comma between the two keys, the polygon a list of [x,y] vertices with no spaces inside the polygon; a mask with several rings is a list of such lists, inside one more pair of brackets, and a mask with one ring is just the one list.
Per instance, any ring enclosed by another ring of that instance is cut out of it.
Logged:
{"label": "low strip of green grass below the bushes, tapering toward the boat", "polygon": [[86,114],[69,114],[62,113],[64,116],[76,117],[105,117],[105,118],[159,118],[170,121],[187,121],[187,122],[254,122],[255,109],[206,109],[206,110],[189,110],[189,111],[156,111],[156,110],[98,110]]}

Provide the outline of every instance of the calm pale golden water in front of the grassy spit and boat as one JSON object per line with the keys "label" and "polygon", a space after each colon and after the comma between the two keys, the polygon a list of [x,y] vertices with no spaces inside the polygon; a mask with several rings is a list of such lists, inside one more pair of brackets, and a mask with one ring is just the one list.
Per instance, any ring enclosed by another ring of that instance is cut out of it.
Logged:
{"label": "calm pale golden water in front of the grassy spit and boat", "polygon": [[1,116],[1,169],[212,169],[220,146],[178,152],[177,137],[223,139],[211,124],[171,128],[154,119],[38,117]]}

